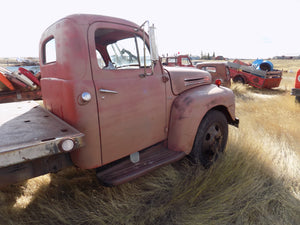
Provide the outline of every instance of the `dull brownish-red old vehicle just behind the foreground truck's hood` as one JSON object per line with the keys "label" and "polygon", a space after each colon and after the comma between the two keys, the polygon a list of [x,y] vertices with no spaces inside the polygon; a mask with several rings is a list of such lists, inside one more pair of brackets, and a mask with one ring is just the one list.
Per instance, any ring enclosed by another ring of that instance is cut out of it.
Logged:
{"label": "dull brownish-red old vehicle just behind the foreground truck's hood", "polygon": [[213,82],[219,79],[221,85],[225,87],[231,86],[230,70],[226,62],[201,62],[197,63],[196,68],[208,71]]}

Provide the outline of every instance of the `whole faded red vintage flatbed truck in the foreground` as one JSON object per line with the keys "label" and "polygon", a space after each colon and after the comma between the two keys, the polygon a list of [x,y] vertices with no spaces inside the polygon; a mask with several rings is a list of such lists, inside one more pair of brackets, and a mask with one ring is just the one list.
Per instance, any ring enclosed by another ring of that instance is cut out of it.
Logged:
{"label": "whole faded red vintage flatbed truck in the foreground", "polygon": [[234,94],[208,72],[164,68],[147,24],[80,14],[43,33],[45,109],[0,104],[1,185],[71,165],[118,185],[187,155],[214,162],[238,126]]}

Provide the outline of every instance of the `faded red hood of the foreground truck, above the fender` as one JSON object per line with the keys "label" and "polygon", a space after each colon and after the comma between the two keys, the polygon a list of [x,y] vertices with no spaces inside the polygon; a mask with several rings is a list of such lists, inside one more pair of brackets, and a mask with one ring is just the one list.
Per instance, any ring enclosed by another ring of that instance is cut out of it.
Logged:
{"label": "faded red hood of the foreground truck, above the fender", "polygon": [[211,84],[211,75],[209,72],[190,67],[164,67],[171,80],[172,91],[175,95],[183,91]]}

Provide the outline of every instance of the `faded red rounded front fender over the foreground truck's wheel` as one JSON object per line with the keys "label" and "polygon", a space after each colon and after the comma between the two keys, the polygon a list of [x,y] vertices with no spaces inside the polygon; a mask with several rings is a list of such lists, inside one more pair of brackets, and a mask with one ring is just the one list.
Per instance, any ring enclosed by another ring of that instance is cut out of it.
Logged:
{"label": "faded red rounded front fender over the foreground truck's wheel", "polygon": [[180,94],[171,109],[168,148],[189,154],[200,122],[211,109],[222,111],[228,121],[234,121],[235,100],[232,90],[205,85]]}

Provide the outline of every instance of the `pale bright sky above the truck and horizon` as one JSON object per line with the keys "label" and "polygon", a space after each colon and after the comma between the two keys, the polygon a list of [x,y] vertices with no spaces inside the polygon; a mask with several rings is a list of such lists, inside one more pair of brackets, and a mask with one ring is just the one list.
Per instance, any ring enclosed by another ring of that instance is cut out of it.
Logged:
{"label": "pale bright sky above the truck and horizon", "polygon": [[300,55],[300,0],[5,0],[0,57],[37,57],[42,32],[75,13],[156,26],[160,55]]}

